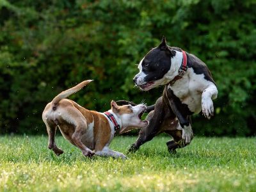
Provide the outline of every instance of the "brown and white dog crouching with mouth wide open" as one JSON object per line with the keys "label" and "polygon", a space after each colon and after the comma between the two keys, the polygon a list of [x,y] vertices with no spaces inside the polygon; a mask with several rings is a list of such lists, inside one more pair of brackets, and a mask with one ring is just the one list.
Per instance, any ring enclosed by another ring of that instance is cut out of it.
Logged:
{"label": "brown and white dog crouching with mouth wide open", "polygon": [[141,120],[146,106],[143,104],[118,106],[112,100],[111,109],[108,112],[99,113],[89,111],[73,100],[65,99],[91,81],[83,81],[61,92],[45,107],[42,119],[49,136],[48,148],[52,149],[57,156],[63,154],[63,150],[58,148],[54,141],[56,128],[59,127],[64,138],[80,148],[84,156],[91,157],[95,154],[125,158],[124,154],[111,150],[109,144],[118,132],[122,134],[148,125],[147,121]]}

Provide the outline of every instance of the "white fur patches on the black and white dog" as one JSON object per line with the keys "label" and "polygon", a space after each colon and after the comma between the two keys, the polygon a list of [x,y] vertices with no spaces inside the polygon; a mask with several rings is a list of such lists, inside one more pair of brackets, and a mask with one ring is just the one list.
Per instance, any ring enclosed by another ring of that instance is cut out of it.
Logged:
{"label": "white fur patches on the black and white dog", "polygon": [[[144,90],[147,91],[155,88],[156,86],[168,84],[172,81],[174,77],[179,74],[182,58],[182,52],[176,51],[175,56],[171,59],[172,65],[170,70],[168,70],[162,79],[158,79],[154,84],[148,86]],[[145,74],[142,72],[142,61],[143,60],[141,60],[140,65],[138,66],[140,69],[140,73],[138,74],[138,79],[140,81],[136,82],[138,85],[147,83],[144,81]],[[216,99],[218,90],[214,83],[207,81],[204,78],[204,74],[195,74],[193,68],[188,68],[182,79],[175,81],[172,86],[168,86],[173,90],[174,95],[179,97],[182,104],[188,105],[191,112],[196,114],[200,113],[202,110],[205,117],[211,118],[214,113],[212,99]],[[180,128],[181,127],[179,127],[179,129]],[[182,129],[182,138],[186,143],[190,143],[192,137],[193,131],[191,126],[184,126],[184,129]]]}

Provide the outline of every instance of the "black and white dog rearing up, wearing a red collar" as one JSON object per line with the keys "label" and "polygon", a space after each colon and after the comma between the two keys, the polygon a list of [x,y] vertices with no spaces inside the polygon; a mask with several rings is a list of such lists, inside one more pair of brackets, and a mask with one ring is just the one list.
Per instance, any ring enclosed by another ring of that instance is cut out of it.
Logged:
{"label": "black and white dog rearing up, wearing a red collar", "polygon": [[[165,88],[163,96],[148,109],[154,109],[148,113],[149,124],[141,129],[129,151],[138,150],[161,132],[173,137],[166,143],[170,152],[188,145],[193,138],[190,116],[202,111],[209,119],[214,114],[212,99],[216,99],[218,90],[211,72],[193,54],[168,46],[164,37],[158,47],[145,55],[138,68],[140,72],[133,81],[141,90],[161,85]],[[122,103],[125,101],[119,102]]]}

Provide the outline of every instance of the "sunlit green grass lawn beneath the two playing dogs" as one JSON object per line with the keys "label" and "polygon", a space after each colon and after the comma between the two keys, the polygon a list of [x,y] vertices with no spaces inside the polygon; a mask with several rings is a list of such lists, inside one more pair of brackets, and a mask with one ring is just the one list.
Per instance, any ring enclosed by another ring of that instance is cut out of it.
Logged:
{"label": "sunlit green grass lawn beneath the two playing dogs", "polygon": [[[118,137],[126,152],[134,137]],[[0,137],[0,191],[256,191],[255,138],[194,138],[169,154],[159,136],[128,160],[83,157],[62,137],[57,157],[45,136]]]}

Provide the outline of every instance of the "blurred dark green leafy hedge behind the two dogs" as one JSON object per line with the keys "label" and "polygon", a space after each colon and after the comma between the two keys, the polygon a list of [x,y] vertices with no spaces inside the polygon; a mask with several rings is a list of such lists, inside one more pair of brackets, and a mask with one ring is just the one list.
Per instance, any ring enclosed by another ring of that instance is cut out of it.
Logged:
{"label": "blurred dark green leafy hedge behind the two dogs", "polygon": [[0,0],[1,133],[45,133],[45,104],[94,79],[70,99],[105,111],[111,99],[154,104],[163,88],[140,92],[135,63],[165,35],[207,63],[218,85],[216,115],[193,117],[195,134],[255,134],[254,0]]}

